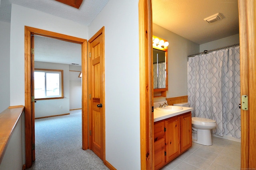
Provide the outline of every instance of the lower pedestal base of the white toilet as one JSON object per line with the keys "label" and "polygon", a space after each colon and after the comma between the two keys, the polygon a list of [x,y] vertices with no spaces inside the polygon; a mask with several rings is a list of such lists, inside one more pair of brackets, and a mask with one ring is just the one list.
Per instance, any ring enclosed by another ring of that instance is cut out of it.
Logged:
{"label": "lower pedestal base of the white toilet", "polygon": [[196,133],[192,133],[192,142],[206,146],[212,145],[211,130],[197,129]]}

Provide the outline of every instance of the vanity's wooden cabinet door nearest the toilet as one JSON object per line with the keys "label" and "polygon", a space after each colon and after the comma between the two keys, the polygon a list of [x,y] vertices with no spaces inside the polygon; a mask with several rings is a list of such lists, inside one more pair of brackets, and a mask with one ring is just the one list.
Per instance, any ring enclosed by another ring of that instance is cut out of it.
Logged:
{"label": "vanity's wooden cabinet door nearest the toilet", "polygon": [[181,139],[181,150],[184,152],[192,146],[192,120],[191,112],[180,116],[180,139]]}

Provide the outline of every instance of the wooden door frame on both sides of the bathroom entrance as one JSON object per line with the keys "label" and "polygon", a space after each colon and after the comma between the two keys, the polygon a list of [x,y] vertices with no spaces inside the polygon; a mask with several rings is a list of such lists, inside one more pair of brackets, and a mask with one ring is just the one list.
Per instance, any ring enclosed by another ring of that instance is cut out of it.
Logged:
{"label": "wooden door frame on both sides of the bathroom entrance", "polygon": [[[152,152],[153,114],[149,106],[150,96],[150,48],[152,48],[151,0],[139,0],[139,46],[140,46],[140,158],[141,169],[154,169]],[[241,95],[249,96],[249,110],[241,110],[241,168],[256,168],[256,1],[238,0]],[[250,137],[250,138],[249,138]],[[152,148],[152,149],[150,149]]]}

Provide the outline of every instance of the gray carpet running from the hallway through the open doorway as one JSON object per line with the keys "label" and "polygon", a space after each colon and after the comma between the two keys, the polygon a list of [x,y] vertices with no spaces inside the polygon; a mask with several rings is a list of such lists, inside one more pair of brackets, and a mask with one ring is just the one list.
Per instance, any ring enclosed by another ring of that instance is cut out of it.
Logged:
{"label": "gray carpet running from the hallway through the open doorway", "polygon": [[91,150],[82,150],[81,110],[35,120],[36,161],[28,170],[109,170]]}

